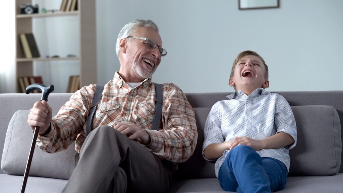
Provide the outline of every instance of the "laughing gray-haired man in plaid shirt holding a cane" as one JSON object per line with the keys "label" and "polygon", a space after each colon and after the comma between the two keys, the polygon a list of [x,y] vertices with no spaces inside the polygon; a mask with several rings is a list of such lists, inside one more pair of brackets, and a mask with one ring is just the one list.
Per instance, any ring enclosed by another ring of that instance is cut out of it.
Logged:
{"label": "laughing gray-haired man in plaid shirt holding a cane", "polygon": [[36,102],[28,115],[32,129],[40,127],[37,144],[43,151],[61,151],[75,141],[80,160],[64,192],[167,192],[177,163],[196,147],[194,111],[173,83],[162,85],[162,118],[151,130],[156,110],[151,75],[167,54],[156,24],[142,19],[126,24],[116,52],[120,70],[104,86],[88,136],[85,123],[96,85],[75,92],[54,118],[46,101]]}

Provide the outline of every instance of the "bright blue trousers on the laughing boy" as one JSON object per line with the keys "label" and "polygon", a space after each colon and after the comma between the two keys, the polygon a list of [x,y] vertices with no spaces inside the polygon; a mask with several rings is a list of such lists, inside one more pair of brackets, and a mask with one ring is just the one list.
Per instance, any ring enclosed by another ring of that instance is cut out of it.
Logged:
{"label": "bright blue trousers on the laughing boy", "polygon": [[253,148],[238,145],[226,156],[218,180],[225,191],[275,192],[285,187],[287,168],[277,159],[261,158]]}

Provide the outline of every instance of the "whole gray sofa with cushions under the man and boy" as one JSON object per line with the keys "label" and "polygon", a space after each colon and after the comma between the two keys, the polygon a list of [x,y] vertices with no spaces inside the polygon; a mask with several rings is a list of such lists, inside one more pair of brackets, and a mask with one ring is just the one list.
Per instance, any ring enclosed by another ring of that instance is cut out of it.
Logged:
{"label": "whole gray sofa with cushions under the man and boy", "polygon": [[[291,167],[280,192],[343,192],[343,91],[278,92],[292,106],[298,129],[297,146],[290,150]],[[187,93],[196,113],[198,144],[194,155],[179,165],[170,192],[224,192],[214,174],[214,162],[202,158],[203,127],[211,106],[230,93]],[[70,93],[51,93],[53,113]],[[40,94],[0,94],[0,192],[19,192],[33,133],[26,120]],[[20,110],[20,111],[17,111]],[[26,192],[61,192],[73,169],[73,144],[47,154],[36,147]]]}

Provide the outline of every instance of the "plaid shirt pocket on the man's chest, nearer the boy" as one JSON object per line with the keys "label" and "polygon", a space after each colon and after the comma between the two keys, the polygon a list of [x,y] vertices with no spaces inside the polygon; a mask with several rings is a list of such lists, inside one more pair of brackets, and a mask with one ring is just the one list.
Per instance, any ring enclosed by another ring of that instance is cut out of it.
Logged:
{"label": "plaid shirt pocket on the man's chest, nearer the boy", "polygon": [[154,119],[155,110],[156,105],[154,103],[139,103],[138,110],[132,116],[133,122],[141,128],[150,129]]}

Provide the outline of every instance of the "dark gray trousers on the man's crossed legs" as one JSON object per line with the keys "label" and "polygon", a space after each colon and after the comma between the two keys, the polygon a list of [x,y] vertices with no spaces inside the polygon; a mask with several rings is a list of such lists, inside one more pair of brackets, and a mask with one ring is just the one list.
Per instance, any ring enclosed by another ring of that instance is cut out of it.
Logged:
{"label": "dark gray trousers on the man's crossed legs", "polygon": [[171,169],[110,126],[87,136],[63,192],[168,192]]}

